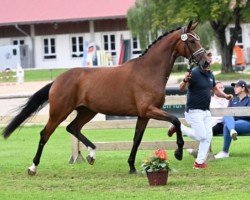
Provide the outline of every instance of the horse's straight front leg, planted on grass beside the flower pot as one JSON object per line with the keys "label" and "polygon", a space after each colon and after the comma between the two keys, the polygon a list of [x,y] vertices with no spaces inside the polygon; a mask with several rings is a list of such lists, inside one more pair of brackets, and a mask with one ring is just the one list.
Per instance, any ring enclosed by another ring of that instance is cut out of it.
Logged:
{"label": "horse's straight front leg, planted on grass beside the flower pot", "polygon": [[135,135],[134,135],[134,143],[133,143],[133,147],[131,149],[129,158],[128,158],[128,164],[130,167],[130,174],[135,174],[136,173],[136,169],[135,169],[135,157],[136,157],[136,153],[138,150],[138,147],[141,143],[145,128],[148,124],[148,120],[147,118],[141,118],[138,117],[137,118],[137,122],[136,122],[136,127],[135,127]]}

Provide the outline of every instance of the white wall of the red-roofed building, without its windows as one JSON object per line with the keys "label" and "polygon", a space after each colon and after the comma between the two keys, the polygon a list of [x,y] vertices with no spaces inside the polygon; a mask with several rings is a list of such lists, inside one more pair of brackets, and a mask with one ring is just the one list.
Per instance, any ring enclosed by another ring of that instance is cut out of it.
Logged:
{"label": "white wall of the red-roofed building, without its windows", "polygon": [[[130,31],[110,31],[110,32],[95,32],[94,38],[95,43],[103,50],[103,35],[104,34],[115,34],[116,36],[116,56],[113,56],[113,63],[116,65],[120,57],[121,49],[121,35],[124,40],[131,39]],[[60,35],[46,35],[46,36],[35,36],[34,47],[35,47],[35,66],[36,68],[71,68],[81,67],[83,60],[82,58],[71,57],[71,37],[82,35],[84,41],[92,42],[91,35],[89,33],[83,34],[60,34]],[[43,39],[44,38],[55,38],[56,41],[56,58],[55,59],[44,59],[43,56]],[[0,45],[10,45],[13,39],[24,39],[25,44],[31,49],[31,38],[30,37],[15,37],[15,38],[0,38]],[[31,54],[30,54],[31,56]]]}

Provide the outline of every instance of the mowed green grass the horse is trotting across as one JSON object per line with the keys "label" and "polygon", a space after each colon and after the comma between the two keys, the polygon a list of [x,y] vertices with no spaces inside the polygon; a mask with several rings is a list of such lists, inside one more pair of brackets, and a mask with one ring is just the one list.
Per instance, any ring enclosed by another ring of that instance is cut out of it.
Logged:
{"label": "mowed green grass the horse is trotting across", "polygon": [[[68,164],[71,141],[64,127],[46,144],[36,176],[27,175],[42,127],[24,127],[8,140],[0,139],[0,199],[248,199],[250,191],[250,137],[232,143],[229,159],[209,162],[194,170],[186,152],[182,161],[168,151],[171,166],[168,185],[151,187],[145,174],[129,175],[129,151],[97,151],[93,166]],[[92,141],[131,141],[132,129],[86,130]],[[165,129],[147,129],[144,140],[169,140]],[[174,138],[173,138],[174,139]],[[187,140],[187,138],[184,138]],[[213,151],[222,138],[213,139]],[[138,151],[136,167],[152,151]],[[84,157],[87,155],[83,152]]]}

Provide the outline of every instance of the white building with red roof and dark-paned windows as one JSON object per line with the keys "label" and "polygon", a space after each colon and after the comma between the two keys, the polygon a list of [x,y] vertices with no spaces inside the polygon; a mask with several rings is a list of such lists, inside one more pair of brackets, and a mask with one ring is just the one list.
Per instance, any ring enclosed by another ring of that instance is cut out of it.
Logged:
{"label": "white building with red roof and dark-paned windows", "polygon": [[126,21],[127,10],[134,3],[135,0],[3,0],[0,46],[27,45],[28,52],[21,52],[29,58],[25,68],[68,68],[83,66],[83,54],[94,42],[112,55],[116,65],[121,59],[121,41],[129,46],[130,58],[141,53]]}

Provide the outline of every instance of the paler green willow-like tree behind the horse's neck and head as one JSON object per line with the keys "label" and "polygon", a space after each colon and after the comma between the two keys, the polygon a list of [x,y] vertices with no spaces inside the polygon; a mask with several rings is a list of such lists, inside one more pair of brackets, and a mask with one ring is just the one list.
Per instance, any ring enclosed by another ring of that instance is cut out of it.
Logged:
{"label": "paler green willow-like tree behind the horse's neck and head", "polygon": [[[128,27],[133,36],[138,36],[142,49],[145,49],[162,32],[183,25],[183,21],[176,21],[170,17],[170,0],[137,0],[134,7],[127,13]],[[213,33],[207,23],[201,24],[196,32],[200,35],[204,47],[209,48],[213,40]]]}

